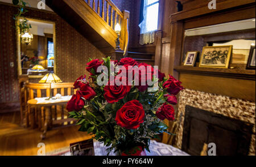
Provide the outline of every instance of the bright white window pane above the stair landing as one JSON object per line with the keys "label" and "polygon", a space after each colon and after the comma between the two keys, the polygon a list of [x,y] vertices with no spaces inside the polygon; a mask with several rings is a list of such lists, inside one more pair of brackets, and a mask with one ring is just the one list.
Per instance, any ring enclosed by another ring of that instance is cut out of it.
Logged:
{"label": "bright white window pane above the stair landing", "polygon": [[159,0],[144,0],[143,22],[141,34],[158,29]]}

